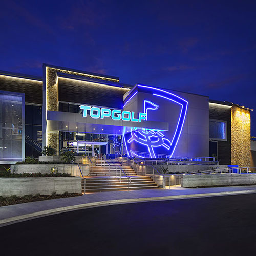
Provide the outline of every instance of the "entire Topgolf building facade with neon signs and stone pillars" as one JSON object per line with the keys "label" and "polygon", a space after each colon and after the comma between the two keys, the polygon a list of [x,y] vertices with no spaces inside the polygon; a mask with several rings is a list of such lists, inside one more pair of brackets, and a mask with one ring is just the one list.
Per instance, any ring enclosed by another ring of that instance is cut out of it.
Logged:
{"label": "entire Topgolf building facade with neon signs and stone pillars", "polygon": [[43,65],[43,78],[0,72],[0,161],[57,154],[214,156],[250,164],[250,111],[208,96]]}

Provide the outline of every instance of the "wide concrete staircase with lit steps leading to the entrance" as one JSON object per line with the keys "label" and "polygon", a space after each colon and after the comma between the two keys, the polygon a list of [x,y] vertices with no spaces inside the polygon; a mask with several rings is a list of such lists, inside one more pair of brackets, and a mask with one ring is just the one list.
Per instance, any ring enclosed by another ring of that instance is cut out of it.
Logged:
{"label": "wide concrete staircase with lit steps leading to the entrance", "polygon": [[[131,166],[121,165],[117,159],[97,159],[96,165],[91,166],[91,176],[86,178],[85,191],[84,179],[82,179],[82,193],[152,189],[159,186],[148,176],[136,175]],[[129,178],[120,170],[130,177]]]}

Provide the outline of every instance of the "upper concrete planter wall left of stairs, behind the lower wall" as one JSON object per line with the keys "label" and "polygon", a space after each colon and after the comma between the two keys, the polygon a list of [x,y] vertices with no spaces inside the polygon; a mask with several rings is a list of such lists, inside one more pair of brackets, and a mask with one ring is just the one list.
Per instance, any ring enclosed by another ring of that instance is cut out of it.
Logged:
{"label": "upper concrete planter wall left of stairs, behind the lower wall", "polygon": [[[69,173],[73,176],[79,176],[80,171],[76,164],[14,164],[11,165],[12,173],[50,173],[52,168],[57,169],[59,173]],[[89,176],[90,166],[80,165],[83,176]]]}

